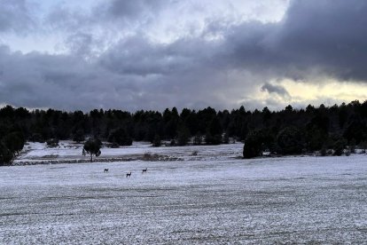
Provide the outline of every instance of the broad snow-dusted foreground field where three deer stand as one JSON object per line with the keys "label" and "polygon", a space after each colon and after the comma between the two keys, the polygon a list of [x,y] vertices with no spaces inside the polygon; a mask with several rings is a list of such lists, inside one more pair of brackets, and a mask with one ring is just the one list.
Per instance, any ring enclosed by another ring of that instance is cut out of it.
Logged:
{"label": "broad snow-dusted foreground field where three deer stand", "polygon": [[0,168],[0,244],[367,242],[365,154],[243,160],[240,150],[161,147],[148,151],[183,161]]}

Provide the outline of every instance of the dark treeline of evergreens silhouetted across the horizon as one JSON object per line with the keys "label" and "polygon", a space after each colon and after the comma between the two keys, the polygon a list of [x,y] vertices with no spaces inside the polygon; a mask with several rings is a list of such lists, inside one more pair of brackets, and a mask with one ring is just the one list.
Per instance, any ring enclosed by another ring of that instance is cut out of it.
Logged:
{"label": "dark treeline of evergreens silhouetted across the horizon", "polygon": [[304,109],[288,106],[277,112],[267,107],[254,111],[245,107],[231,111],[184,108],[180,113],[176,107],[163,113],[114,109],[94,109],[89,113],[29,111],[11,106],[0,109],[0,164],[6,162],[8,155],[19,152],[25,140],[82,142],[86,137],[108,141],[110,146],[131,145],[132,140],[147,140],[153,146],[169,140],[172,145],[184,146],[191,138],[193,145],[216,145],[235,138],[245,140],[245,157],[260,155],[263,150],[300,154],[334,149],[334,154],[340,154],[346,146],[366,145],[367,101],[332,107],[309,105]]}

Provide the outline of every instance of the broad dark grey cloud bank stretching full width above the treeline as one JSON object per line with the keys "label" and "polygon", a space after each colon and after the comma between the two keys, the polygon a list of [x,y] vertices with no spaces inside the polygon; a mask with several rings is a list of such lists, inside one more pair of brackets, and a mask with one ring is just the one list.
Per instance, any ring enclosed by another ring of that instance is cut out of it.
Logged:
{"label": "broad dark grey cloud bank stretching full width above the treeline", "polygon": [[254,89],[291,99],[286,88],[263,81],[319,75],[367,81],[367,3],[359,0],[292,1],[284,20],[275,23],[207,20],[202,35],[172,43],[152,42],[142,35],[142,24],[94,55],[98,41],[91,27],[116,21],[119,29],[153,20],[167,3],[109,1],[90,13],[55,11],[48,20],[67,29],[69,54],[1,47],[0,103],[65,109],[238,107]]}

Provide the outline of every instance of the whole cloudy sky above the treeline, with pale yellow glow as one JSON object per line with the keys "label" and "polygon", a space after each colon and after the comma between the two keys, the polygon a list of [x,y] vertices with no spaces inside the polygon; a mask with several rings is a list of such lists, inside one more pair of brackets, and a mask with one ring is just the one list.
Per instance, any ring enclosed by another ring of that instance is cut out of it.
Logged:
{"label": "whole cloudy sky above the treeline, with pale yellow glow", "polygon": [[332,106],[367,96],[360,0],[0,0],[0,106]]}

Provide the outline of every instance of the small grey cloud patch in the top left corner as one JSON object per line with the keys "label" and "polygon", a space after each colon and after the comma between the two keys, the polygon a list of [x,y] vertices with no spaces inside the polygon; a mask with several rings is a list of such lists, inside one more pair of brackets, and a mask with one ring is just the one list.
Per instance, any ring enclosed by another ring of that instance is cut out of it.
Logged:
{"label": "small grey cloud patch in the top left corner", "polygon": [[14,31],[23,34],[34,24],[31,5],[26,0],[0,0],[0,33]]}

